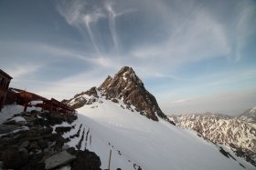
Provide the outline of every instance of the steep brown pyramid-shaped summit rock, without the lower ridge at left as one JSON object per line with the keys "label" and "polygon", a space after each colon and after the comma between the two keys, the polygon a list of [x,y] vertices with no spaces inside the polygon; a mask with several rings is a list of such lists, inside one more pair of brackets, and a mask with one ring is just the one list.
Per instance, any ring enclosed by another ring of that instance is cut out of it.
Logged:
{"label": "steep brown pyramid-shaped summit rock, without the lower ridge at left", "polygon": [[138,112],[152,120],[158,121],[156,115],[168,120],[159,108],[155,96],[145,89],[144,83],[132,67],[124,66],[113,78],[108,76],[99,89],[107,99],[123,99],[126,105],[135,106]]}

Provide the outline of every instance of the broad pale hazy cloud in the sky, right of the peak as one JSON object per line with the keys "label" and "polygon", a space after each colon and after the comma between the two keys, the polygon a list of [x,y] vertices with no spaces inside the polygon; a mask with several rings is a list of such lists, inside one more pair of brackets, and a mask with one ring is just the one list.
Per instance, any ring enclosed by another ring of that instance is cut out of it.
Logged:
{"label": "broad pale hazy cloud in the sky, right of the peak", "polygon": [[229,40],[218,21],[204,9],[190,17],[182,26],[171,23],[176,31],[170,32],[162,44],[138,46],[132,54],[140,58],[165,58],[175,65],[229,55]]}

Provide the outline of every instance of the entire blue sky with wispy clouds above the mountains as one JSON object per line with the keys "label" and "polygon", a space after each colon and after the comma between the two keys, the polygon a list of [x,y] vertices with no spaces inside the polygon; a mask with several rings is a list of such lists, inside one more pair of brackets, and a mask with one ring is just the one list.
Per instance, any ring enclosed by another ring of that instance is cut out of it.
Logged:
{"label": "entire blue sky with wispy clouds above the mountains", "polygon": [[70,98],[132,66],[165,114],[256,105],[252,0],[1,0],[11,86]]}

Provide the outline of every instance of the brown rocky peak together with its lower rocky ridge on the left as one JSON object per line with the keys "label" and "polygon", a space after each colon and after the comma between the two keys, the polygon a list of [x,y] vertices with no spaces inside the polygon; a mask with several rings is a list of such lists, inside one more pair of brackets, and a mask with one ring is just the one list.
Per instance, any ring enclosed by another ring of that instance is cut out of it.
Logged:
{"label": "brown rocky peak together with its lower rocky ridge on the left", "polygon": [[[175,125],[161,111],[155,100],[155,96],[145,89],[144,83],[134,73],[133,68],[128,66],[124,66],[113,77],[109,75],[100,87],[92,87],[89,91],[82,92],[70,100],[64,100],[62,102],[73,108],[80,108],[83,105],[90,105],[95,102],[99,98],[98,93],[114,103],[118,103],[117,99],[123,100],[125,107],[132,111],[131,106],[133,105],[137,112],[145,115],[149,119],[158,121],[158,117],[160,117]],[[92,97],[88,101],[82,95],[90,95]]]}

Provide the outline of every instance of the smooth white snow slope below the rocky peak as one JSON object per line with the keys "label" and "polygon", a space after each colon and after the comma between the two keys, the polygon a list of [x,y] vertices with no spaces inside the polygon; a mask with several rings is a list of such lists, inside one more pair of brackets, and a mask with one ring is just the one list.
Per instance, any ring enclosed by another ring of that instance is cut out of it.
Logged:
{"label": "smooth white snow slope below the rocky peak", "polygon": [[[81,149],[85,147],[101,157],[101,168],[108,168],[112,150],[111,169],[123,170],[236,170],[255,169],[240,157],[237,160],[220,154],[219,147],[197,136],[194,131],[159,122],[144,115],[123,109],[119,104],[100,98],[78,111],[80,136],[84,132]],[[76,130],[74,130],[75,132]],[[75,146],[79,139],[69,142]],[[241,165],[240,165],[241,164]]]}

